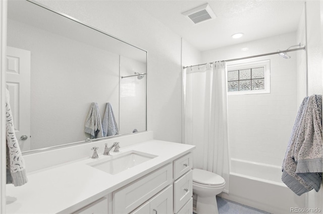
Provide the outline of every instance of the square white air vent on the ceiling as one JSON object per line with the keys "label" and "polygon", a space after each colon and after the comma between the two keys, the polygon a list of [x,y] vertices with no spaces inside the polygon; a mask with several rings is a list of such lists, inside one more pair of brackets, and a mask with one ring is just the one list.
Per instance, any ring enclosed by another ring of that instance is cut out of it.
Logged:
{"label": "square white air vent on the ceiling", "polygon": [[192,20],[194,24],[217,18],[216,14],[214,14],[214,12],[208,4],[202,5],[198,8],[194,8],[182,14],[190,18],[190,20]]}

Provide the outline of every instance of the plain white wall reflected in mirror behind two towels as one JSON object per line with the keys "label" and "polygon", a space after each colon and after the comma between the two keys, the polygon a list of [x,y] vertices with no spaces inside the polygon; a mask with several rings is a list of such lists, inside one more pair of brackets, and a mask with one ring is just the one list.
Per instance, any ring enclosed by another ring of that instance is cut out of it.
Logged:
{"label": "plain white wall reflected in mirror behind two towels", "polygon": [[8,46],[31,51],[31,150],[90,137],[84,125],[92,102],[97,102],[101,119],[110,102],[119,122],[119,55],[8,23]]}

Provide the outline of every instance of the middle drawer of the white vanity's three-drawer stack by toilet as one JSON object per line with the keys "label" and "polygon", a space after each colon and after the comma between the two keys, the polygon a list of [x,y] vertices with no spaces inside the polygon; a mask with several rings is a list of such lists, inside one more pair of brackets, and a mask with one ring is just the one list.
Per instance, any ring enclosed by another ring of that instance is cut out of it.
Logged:
{"label": "middle drawer of the white vanity's three-drawer stack by toilet", "polygon": [[174,212],[177,213],[193,196],[193,171],[180,177],[174,182]]}

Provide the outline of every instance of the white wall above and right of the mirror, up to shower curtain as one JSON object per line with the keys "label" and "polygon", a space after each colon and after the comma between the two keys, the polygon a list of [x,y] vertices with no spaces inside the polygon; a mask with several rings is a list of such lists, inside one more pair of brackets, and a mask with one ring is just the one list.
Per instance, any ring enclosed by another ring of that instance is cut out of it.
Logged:
{"label": "white wall above and right of the mirror, up to shower curtain", "polygon": [[182,141],[181,38],[129,1],[37,1],[148,52],[148,130]]}

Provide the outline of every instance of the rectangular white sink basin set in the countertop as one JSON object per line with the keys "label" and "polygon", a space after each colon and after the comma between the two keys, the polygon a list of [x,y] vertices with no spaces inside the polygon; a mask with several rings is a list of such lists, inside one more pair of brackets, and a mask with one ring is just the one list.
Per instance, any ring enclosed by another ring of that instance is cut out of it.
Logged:
{"label": "rectangular white sink basin set in the countertop", "polygon": [[127,169],[130,169],[134,166],[137,166],[139,164],[142,164],[146,161],[149,161],[157,156],[147,154],[147,153],[141,153],[137,151],[128,152],[125,154],[122,154],[121,156],[113,157],[110,160],[107,161],[97,161],[94,164],[91,164],[90,166],[102,170],[103,172],[115,175],[117,173],[123,172]]}

